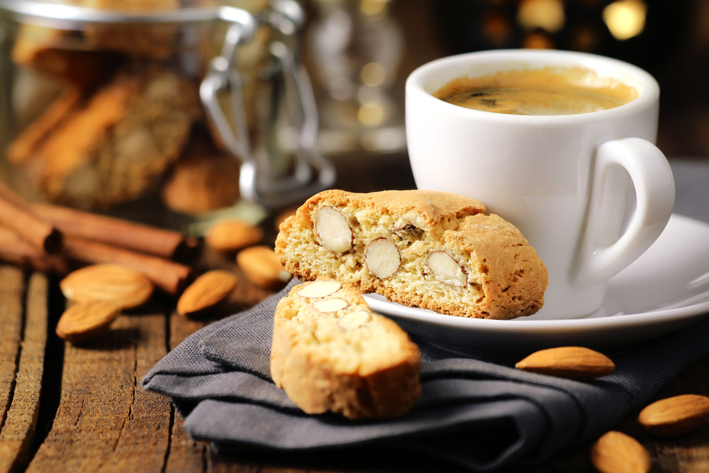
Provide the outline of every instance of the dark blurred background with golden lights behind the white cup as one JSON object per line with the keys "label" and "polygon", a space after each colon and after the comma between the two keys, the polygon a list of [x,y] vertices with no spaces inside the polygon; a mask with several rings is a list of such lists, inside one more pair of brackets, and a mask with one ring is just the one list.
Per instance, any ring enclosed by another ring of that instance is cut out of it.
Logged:
{"label": "dark blurred background with golden lights behind the white cup", "polygon": [[308,12],[304,60],[318,97],[320,145],[347,176],[375,162],[392,179],[405,165],[397,127],[413,69],[496,48],[593,52],[646,69],[661,87],[658,147],[670,159],[709,160],[708,1],[318,0]]}

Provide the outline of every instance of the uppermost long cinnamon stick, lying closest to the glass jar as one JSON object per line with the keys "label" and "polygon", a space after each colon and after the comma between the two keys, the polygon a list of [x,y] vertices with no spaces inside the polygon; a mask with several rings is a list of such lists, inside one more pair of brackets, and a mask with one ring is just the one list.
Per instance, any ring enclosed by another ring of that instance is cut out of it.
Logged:
{"label": "uppermost long cinnamon stick, lying closest to the glass jar", "polygon": [[198,246],[182,233],[49,204],[34,204],[38,216],[67,235],[128,248],[181,262],[194,259]]}

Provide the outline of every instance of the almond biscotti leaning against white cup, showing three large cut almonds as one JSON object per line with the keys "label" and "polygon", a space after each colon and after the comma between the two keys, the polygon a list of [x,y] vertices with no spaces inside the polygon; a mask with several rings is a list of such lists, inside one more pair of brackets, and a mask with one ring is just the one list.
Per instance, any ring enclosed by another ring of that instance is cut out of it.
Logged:
{"label": "almond biscotti leaning against white cup, showing three large cut almonds", "polygon": [[472,318],[529,316],[547,269],[522,233],[440,191],[324,191],[281,224],[276,253],[302,281],[333,278],[389,301]]}

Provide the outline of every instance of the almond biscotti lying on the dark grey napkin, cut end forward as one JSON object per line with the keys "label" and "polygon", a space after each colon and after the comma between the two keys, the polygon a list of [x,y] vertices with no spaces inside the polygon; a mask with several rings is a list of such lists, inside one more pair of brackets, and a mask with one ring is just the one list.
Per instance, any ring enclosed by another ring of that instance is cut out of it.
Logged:
{"label": "almond biscotti lying on the dark grey napkin, cut end forward", "polygon": [[306,413],[406,413],[420,395],[418,347],[350,284],[298,284],[274,316],[271,377]]}

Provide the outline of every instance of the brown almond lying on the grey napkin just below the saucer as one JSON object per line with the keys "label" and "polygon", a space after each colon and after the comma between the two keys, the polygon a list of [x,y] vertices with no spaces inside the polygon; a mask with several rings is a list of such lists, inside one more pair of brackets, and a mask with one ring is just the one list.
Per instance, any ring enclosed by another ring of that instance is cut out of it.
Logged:
{"label": "brown almond lying on the grey napkin just below the saucer", "polygon": [[534,352],[515,368],[562,378],[593,379],[613,372],[615,364],[590,348],[557,347]]}

